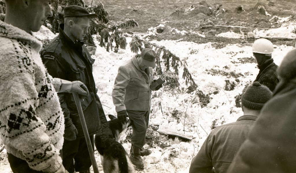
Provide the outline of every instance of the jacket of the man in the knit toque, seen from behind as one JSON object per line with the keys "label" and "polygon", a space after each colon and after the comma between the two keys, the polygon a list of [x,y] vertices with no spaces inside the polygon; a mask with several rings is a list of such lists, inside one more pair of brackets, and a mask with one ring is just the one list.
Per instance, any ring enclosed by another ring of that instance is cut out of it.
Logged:
{"label": "jacket of the man in the knit toque, seen from behind", "polygon": [[244,142],[257,116],[244,115],[236,122],[216,127],[192,159],[189,173],[226,172],[232,159]]}

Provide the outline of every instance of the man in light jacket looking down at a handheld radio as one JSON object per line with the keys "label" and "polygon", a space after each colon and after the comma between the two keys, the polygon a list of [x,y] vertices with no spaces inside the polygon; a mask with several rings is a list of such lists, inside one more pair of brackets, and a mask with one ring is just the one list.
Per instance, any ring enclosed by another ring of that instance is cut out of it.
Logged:
{"label": "man in light jacket looking down at a handheld radio", "polygon": [[[131,139],[131,162],[140,169],[144,168],[141,156],[151,153],[143,149],[146,130],[149,122],[151,106],[151,92],[149,88],[155,67],[156,53],[152,49],[144,48],[141,54],[125,62],[118,69],[115,79],[112,99],[118,119],[126,121],[128,115],[131,120],[133,134]],[[158,86],[156,90],[162,86]]]}

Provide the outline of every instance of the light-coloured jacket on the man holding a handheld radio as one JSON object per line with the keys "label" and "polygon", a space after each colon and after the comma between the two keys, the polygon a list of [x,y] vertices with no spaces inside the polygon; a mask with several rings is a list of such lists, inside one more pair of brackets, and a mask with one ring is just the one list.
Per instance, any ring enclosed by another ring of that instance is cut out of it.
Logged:
{"label": "light-coloured jacket on the man holding a handheld radio", "polygon": [[126,109],[135,111],[150,109],[152,90],[149,86],[156,77],[153,76],[152,67],[148,67],[146,72],[140,69],[136,56],[118,69],[112,91],[116,112]]}

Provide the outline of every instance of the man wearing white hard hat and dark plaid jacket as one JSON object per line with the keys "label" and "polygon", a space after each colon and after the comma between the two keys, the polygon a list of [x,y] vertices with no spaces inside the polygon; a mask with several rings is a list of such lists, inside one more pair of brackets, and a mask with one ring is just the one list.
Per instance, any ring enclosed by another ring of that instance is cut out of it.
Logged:
{"label": "man wearing white hard hat and dark plaid jacket", "polygon": [[253,43],[252,52],[259,68],[259,73],[254,82],[258,81],[262,85],[267,86],[271,91],[274,90],[276,84],[279,82],[276,73],[276,69],[279,66],[271,58],[273,51],[273,44],[265,38],[260,38]]}

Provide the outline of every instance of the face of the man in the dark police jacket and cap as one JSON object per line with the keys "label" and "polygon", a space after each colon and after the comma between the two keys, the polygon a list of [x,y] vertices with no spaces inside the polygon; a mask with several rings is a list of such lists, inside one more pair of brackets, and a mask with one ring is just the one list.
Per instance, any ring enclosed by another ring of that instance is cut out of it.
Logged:
{"label": "face of the man in the dark police jacket and cap", "polygon": [[73,24],[71,34],[76,40],[82,41],[85,35],[89,33],[89,22],[88,17],[82,17],[77,23]]}

